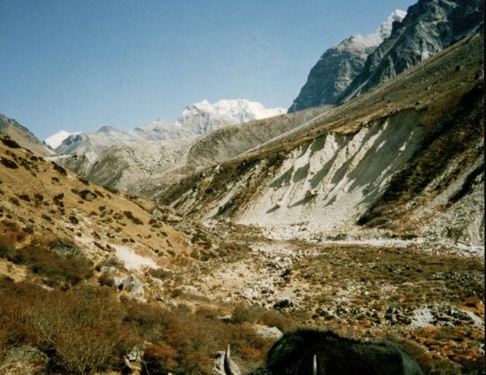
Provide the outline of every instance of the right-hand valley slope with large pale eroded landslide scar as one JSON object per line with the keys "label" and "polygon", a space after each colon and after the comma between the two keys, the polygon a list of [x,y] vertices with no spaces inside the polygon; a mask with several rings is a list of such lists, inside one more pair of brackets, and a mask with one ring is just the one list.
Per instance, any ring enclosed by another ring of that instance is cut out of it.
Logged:
{"label": "right-hand valley slope with large pale eroded landslide scar", "polygon": [[483,39],[476,33],[377,90],[180,181],[161,202],[205,221],[292,237],[368,226],[481,245]]}

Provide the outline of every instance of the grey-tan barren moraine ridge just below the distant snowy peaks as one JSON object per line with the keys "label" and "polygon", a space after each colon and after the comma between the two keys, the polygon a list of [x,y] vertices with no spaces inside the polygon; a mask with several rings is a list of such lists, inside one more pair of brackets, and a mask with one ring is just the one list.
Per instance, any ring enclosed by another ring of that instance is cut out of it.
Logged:
{"label": "grey-tan barren moraine ridge just below the distant snowy peaks", "polygon": [[261,145],[328,109],[316,107],[305,113],[228,125],[202,137],[118,145],[99,153],[51,159],[94,183],[151,199],[180,178]]}

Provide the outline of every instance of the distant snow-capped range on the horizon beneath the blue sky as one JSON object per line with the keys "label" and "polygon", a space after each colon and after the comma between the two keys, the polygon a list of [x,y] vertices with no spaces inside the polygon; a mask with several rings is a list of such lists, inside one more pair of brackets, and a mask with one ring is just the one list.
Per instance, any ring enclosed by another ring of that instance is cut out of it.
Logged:
{"label": "distant snow-capped range on the horizon beneath the blue sky", "polygon": [[113,126],[104,126],[95,133],[68,133],[61,130],[48,137],[46,143],[60,154],[96,152],[113,145],[194,137],[226,125],[282,113],[285,113],[285,109],[266,109],[262,104],[247,99],[223,99],[215,104],[204,100],[186,106],[175,124],[158,119],[130,132]]}

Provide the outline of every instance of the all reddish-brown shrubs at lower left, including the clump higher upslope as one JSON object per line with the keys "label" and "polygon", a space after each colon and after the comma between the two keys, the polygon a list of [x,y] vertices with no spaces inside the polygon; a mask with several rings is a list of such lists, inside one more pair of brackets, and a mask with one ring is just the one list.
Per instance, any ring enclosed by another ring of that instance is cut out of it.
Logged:
{"label": "all reddish-brown shrubs at lower left, including the clump higher upslope", "polygon": [[[12,348],[28,345],[46,355],[41,367],[47,373],[124,371],[125,356],[136,346],[144,350],[147,374],[210,374],[216,353],[228,343],[247,368],[263,361],[273,343],[242,314],[223,322],[223,309],[194,313],[185,305],[120,300],[113,288],[96,285],[94,264],[66,240],[36,237],[18,248],[16,240],[0,238],[1,258],[25,266],[29,277],[0,278],[0,367],[9,366],[3,360]],[[282,328],[287,323],[277,316],[261,320],[270,319]]]}

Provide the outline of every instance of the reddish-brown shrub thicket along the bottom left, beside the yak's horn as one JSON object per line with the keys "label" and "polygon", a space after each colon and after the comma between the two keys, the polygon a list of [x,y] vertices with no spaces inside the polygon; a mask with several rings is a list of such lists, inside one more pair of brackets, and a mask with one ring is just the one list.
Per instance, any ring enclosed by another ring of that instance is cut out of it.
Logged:
{"label": "reddish-brown shrub thicket along the bottom left, beside the yak's horn", "polygon": [[207,310],[119,302],[109,288],[92,285],[49,292],[2,278],[0,297],[0,352],[32,345],[49,357],[49,372],[122,371],[125,355],[145,343],[148,374],[210,374],[214,355],[228,343],[249,364],[272,344],[248,323],[226,324]]}

